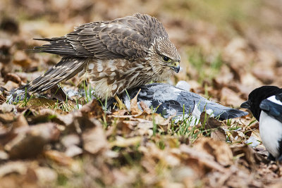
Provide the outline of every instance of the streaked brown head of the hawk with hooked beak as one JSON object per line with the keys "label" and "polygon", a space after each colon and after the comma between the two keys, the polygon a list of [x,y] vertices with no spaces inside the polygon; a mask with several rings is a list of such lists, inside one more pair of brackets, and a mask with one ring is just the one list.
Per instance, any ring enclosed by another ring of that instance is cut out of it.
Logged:
{"label": "streaked brown head of the hawk with hooked beak", "polygon": [[151,65],[154,73],[167,77],[180,70],[180,55],[176,46],[166,37],[154,40],[149,48]]}

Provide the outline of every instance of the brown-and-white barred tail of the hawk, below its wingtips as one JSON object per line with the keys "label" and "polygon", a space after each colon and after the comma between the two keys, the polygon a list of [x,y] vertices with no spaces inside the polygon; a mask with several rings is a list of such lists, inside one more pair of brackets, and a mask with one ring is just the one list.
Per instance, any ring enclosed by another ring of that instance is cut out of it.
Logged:
{"label": "brown-and-white barred tail of the hawk, below its wingtips", "polygon": [[47,70],[46,73],[19,89],[25,90],[26,88],[28,92],[44,92],[62,80],[68,80],[79,73],[87,64],[87,61],[87,58],[63,57],[59,63]]}

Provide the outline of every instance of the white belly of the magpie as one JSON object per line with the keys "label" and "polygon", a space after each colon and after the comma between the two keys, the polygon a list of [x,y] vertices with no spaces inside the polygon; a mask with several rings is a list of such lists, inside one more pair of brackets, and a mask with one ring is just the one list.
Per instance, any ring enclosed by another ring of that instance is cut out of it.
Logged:
{"label": "white belly of the magpie", "polygon": [[279,141],[282,139],[282,123],[262,111],[259,117],[259,134],[266,150],[272,156],[278,157]]}

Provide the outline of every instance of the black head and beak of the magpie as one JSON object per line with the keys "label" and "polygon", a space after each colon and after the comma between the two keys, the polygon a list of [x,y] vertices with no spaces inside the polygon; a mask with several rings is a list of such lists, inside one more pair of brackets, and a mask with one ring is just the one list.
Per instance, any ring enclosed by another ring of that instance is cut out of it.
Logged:
{"label": "black head and beak of the magpie", "polygon": [[241,104],[241,108],[247,108],[250,109],[252,112],[252,115],[259,121],[259,115],[262,111],[259,108],[259,104],[264,100],[269,98],[269,96],[272,96],[274,94],[277,94],[281,92],[282,89],[279,89],[279,87],[276,86],[262,86],[258,87],[257,89],[254,89],[243,104]]}

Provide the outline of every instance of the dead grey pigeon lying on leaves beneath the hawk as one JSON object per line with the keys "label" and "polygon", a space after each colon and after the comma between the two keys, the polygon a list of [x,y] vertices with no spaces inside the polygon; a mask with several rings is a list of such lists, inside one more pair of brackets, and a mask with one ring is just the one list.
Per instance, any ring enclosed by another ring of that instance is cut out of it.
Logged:
{"label": "dead grey pigeon lying on leaves beneath the hawk", "polygon": [[[164,115],[165,118],[168,118],[170,115],[183,116],[183,113],[185,115],[192,114],[196,118],[200,118],[202,111],[211,113],[219,120],[247,115],[247,112],[222,106],[198,94],[180,89],[178,84],[175,87],[162,83],[146,84],[128,89],[127,93],[121,95],[121,99],[128,109],[130,109],[130,99],[136,96],[139,89],[141,90],[137,96],[137,101],[144,101],[147,106],[153,108],[156,113]],[[111,101],[109,104],[111,105]]]}

